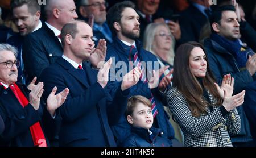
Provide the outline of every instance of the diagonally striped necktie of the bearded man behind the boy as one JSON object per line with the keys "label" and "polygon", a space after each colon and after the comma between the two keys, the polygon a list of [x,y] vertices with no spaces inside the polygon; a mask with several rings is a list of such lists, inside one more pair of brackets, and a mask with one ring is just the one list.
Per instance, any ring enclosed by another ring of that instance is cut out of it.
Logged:
{"label": "diagonally striped necktie of the bearded man behind the boy", "polygon": [[[141,66],[141,61],[139,61],[138,51],[134,47],[134,45],[131,45],[131,49],[130,49],[130,52],[129,52],[129,60],[131,61],[130,55],[133,55],[133,57],[134,57],[134,66],[136,66],[136,67]],[[142,73],[141,73],[141,76],[139,77],[139,80],[141,80],[144,83],[148,82],[145,72],[146,71],[142,66]],[[152,92],[151,92],[150,102],[152,103],[152,107],[151,107],[152,114],[153,114],[153,117],[155,118],[156,114],[158,114],[158,109],[156,109],[156,103],[155,103],[155,99],[154,99],[154,96],[153,96]]]}

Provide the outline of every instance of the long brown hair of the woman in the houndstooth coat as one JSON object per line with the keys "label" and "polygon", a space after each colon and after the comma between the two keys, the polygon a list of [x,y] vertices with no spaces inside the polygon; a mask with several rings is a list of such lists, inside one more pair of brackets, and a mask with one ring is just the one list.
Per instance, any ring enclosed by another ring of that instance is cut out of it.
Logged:
{"label": "long brown hair of the woman in the houndstooth coat", "polygon": [[217,91],[216,86],[214,85],[214,77],[209,68],[209,62],[207,54],[203,45],[195,41],[191,41],[185,44],[180,45],[177,48],[174,57],[174,73],[172,83],[187,99],[189,109],[194,117],[199,117],[201,113],[205,113],[205,107],[209,106],[207,101],[201,99],[203,97],[203,88],[201,87],[199,81],[192,74],[189,68],[189,56],[191,51],[195,47],[200,47],[205,53],[205,60],[207,61],[207,72],[203,78],[203,86],[205,89],[217,98],[217,103],[214,106],[222,105],[222,99],[220,94]]}

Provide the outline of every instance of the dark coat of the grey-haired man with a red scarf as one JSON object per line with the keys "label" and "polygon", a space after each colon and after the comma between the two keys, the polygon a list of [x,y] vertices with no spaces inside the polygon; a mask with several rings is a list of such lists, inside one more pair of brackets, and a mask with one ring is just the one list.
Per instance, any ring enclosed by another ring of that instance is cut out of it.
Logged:
{"label": "dark coat of the grey-haired man with a red scarf", "polygon": [[[29,90],[26,85],[17,85],[28,98]],[[30,103],[23,108],[11,89],[4,89],[2,85],[0,86],[0,115],[5,123],[5,130],[0,135],[0,146],[33,147],[30,126],[36,122],[40,122],[49,145],[47,136],[53,138],[57,134],[57,125],[61,121],[59,114],[52,119],[43,105],[40,105],[38,110],[35,110]]]}

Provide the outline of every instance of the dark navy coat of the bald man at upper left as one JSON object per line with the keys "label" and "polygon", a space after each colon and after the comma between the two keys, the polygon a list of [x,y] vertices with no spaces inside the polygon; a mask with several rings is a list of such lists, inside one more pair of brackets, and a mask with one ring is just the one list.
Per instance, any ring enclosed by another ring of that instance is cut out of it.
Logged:
{"label": "dark navy coat of the bald man at upper left", "polygon": [[43,69],[63,55],[63,48],[54,32],[45,23],[42,28],[27,35],[23,44],[24,68],[28,80],[39,77]]}

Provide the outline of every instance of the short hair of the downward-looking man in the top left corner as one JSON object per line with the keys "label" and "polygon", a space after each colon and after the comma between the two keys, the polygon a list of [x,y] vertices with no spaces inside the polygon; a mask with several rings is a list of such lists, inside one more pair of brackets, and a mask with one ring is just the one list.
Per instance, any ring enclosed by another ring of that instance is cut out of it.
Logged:
{"label": "short hair of the downward-looking man in the top left corner", "polygon": [[37,0],[11,0],[11,10],[13,11],[16,7],[27,5],[28,11],[31,14],[35,14],[37,11],[41,10]]}

